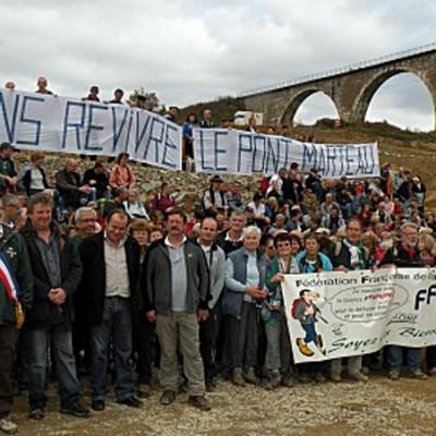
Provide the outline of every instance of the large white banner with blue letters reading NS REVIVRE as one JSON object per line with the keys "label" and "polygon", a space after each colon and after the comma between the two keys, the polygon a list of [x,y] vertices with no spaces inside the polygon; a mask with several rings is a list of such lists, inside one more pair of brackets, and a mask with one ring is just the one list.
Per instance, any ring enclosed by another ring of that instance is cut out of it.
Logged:
{"label": "large white banner with blue letters reading NS REVIVRE", "polygon": [[117,156],[179,170],[181,128],[122,105],[0,89],[0,142],[31,150]]}

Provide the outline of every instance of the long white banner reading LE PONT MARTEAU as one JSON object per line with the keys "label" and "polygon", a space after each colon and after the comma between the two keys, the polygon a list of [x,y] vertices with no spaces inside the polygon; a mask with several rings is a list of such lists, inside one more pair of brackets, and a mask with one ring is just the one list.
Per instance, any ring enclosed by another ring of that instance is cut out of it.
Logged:
{"label": "long white banner reading LE PONT MARTEAU", "polygon": [[227,129],[194,130],[197,172],[271,175],[292,162],[324,178],[379,175],[377,144],[312,144]]}

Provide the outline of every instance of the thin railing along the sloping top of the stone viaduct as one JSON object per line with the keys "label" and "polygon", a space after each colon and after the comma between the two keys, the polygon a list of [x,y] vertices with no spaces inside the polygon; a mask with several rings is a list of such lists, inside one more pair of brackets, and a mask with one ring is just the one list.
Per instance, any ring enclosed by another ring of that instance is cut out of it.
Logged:
{"label": "thin railing along the sloping top of the stone viaduct", "polygon": [[436,50],[436,43],[427,44],[424,46],[415,47],[412,49],[398,51],[390,55],[385,55],[378,58],[368,59],[366,61],[350,63],[346,66],[339,66],[332,70],[323,71],[319,73],[306,74],[296,78],[292,78],[286,82],[279,82],[272,85],[267,85],[258,88],[253,88],[249,90],[244,90],[242,93],[238,93],[237,97],[249,97],[251,95],[263,94],[270,90],[287,88],[290,86],[301,85],[302,83],[318,81],[322,78],[332,77],[340,74],[350,73],[352,71],[363,70],[370,66],[376,66],[386,62],[397,61],[404,58],[410,58],[411,56],[422,55],[428,51]]}

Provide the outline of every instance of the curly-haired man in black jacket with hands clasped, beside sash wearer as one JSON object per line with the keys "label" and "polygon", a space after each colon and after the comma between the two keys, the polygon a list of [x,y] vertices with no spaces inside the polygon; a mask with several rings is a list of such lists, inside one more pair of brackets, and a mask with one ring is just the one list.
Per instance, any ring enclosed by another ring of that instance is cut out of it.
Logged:
{"label": "curly-haired man in black jacket with hands clasped, beside sash wearer", "polygon": [[73,243],[52,221],[52,197],[40,193],[27,203],[29,220],[22,234],[26,241],[34,275],[34,306],[27,313],[28,401],[31,417],[45,416],[47,352],[51,344],[61,413],[88,417],[80,403],[80,384],[72,348],[72,294],[82,276],[82,264]]}

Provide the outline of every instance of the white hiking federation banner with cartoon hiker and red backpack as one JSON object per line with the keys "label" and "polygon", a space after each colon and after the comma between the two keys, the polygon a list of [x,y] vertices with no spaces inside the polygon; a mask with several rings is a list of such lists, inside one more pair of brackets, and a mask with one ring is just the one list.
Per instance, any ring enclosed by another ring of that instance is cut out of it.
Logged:
{"label": "white hiking federation banner with cartoon hiker and red backpack", "polygon": [[296,363],[436,344],[436,270],[288,275],[284,307]]}

